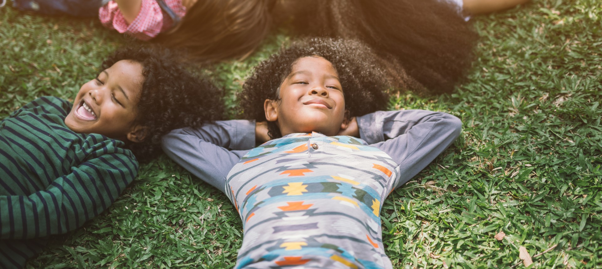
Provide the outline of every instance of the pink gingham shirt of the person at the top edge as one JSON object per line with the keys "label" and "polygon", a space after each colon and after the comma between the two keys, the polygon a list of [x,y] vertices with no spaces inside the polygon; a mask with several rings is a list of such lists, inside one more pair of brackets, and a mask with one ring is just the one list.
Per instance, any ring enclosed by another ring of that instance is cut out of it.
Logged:
{"label": "pink gingham shirt of the person at the top edge", "polygon": [[[186,8],[181,0],[164,0],[165,4],[171,8],[179,17],[184,17]],[[140,40],[150,40],[156,37],[161,31],[165,31],[172,26],[172,18],[161,10],[161,7],[155,0],[142,0],[140,13],[134,21],[128,25],[119,11],[115,1],[109,1],[98,11],[98,17],[102,24],[110,29],[116,29],[118,32],[129,34]]]}

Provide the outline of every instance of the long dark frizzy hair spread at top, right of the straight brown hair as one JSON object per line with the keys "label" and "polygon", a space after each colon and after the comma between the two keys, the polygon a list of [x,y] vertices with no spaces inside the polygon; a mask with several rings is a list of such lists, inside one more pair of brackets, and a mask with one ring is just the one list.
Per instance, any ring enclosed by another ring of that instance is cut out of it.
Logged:
{"label": "long dark frizzy hair spread at top, right of the straight brown hair", "polygon": [[279,24],[299,34],[359,39],[397,60],[428,93],[448,93],[465,78],[478,35],[445,0],[286,1]]}

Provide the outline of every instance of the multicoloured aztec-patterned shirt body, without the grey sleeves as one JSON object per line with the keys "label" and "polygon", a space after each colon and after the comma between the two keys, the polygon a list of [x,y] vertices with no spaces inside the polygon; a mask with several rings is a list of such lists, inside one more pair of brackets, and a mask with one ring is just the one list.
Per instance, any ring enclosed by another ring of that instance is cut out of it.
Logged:
{"label": "multicoloured aztec-patterned shirt body, without the grey sleeves", "polygon": [[250,150],[227,181],[244,227],[236,268],[392,268],[379,212],[397,166],[364,140],[317,132]]}

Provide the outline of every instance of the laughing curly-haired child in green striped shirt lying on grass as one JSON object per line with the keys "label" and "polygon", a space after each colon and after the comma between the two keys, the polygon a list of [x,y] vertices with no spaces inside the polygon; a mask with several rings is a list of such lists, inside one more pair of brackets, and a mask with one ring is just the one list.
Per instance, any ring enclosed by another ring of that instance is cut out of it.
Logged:
{"label": "laughing curly-haired child in green striped shirt lying on grass", "polygon": [[0,121],[0,268],[101,214],[160,137],[221,115],[219,90],[151,49],[117,51],[73,104],[40,97]]}

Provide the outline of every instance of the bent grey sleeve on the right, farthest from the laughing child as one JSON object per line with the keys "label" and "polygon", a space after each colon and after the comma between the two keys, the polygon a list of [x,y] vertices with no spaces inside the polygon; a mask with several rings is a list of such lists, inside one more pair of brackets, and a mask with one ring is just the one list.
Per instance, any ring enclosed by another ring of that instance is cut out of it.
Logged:
{"label": "bent grey sleeve on the right, farthest from the laughing child", "polygon": [[360,137],[399,165],[405,184],[459,137],[462,122],[451,114],[426,111],[377,111],[358,117]]}

